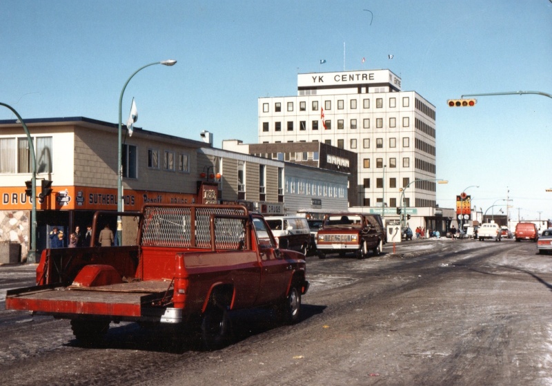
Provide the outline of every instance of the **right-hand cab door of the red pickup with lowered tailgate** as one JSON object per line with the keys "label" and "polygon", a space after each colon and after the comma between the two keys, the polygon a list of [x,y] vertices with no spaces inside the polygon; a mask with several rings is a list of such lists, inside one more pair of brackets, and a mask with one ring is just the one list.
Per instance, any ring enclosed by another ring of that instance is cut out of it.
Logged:
{"label": "right-hand cab door of the red pickup with lowered tailgate", "polygon": [[282,258],[276,241],[263,218],[254,217],[257,246],[261,264],[261,282],[257,304],[265,304],[284,297],[291,279],[290,264]]}

